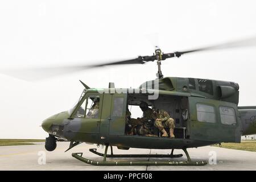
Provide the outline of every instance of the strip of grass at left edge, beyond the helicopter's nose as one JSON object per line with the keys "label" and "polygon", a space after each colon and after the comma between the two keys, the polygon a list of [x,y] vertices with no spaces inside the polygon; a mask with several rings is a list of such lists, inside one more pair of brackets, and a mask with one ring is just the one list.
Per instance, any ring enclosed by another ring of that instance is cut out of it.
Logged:
{"label": "strip of grass at left edge, beyond the helicopter's nose", "polygon": [[44,142],[43,139],[0,139],[0,146],[19,146],[34,144],[31,142]]}

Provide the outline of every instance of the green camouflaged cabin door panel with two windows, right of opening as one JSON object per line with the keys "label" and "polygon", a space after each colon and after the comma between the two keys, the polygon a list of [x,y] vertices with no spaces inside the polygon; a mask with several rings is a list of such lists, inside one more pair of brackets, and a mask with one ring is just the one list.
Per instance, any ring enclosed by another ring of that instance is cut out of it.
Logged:
{"label": "green camouflaged cabin door panel with two windows, right of opening", "polygon": [[[241,141],[241,122],[236,104],[199,97],[189,97],[188,102],[190,139],[210,142]],[[236,124],[225,125],[221,122],[220,107],[234,111]]]}

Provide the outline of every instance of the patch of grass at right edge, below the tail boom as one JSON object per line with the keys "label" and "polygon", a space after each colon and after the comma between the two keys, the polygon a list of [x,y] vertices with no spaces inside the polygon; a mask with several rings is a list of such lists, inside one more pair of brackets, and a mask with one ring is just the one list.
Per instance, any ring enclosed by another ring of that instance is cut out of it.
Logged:
{"label": "patch of grass at right edge, below the tail boom", "polygon": [[[217,145],[213,145],[214,147],[218,147]],[[221,143],[222,148],[230,148],[236,150],[245,150],[245,151],[253,151],[256,152],[256,141],[251,142],[241,142],[241,143]]]}

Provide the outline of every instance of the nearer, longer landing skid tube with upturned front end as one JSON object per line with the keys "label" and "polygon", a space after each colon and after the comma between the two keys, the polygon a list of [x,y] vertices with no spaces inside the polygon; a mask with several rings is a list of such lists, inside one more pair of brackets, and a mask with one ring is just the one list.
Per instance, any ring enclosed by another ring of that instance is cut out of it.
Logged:
{"label": "nearer, longer landing skid tube with upturned front end", "polygon": [[72,156],[94,166],[204,166],[207,162],[192,161],[96,161],[82,157],[82,153],[73,153]]}

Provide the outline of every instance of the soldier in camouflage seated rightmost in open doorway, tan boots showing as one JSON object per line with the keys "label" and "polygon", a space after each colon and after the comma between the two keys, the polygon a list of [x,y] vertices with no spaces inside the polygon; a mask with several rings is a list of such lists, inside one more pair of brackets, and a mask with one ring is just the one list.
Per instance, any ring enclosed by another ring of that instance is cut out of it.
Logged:
{"label": "soldier in camouflage seated rightmost in open doorway, tan boots showing", "polygon": [[165,110],[156,110],[153,109],[155,114],[155,126],[163,133],[162,137],[168,137],[168,134],[165,127],[170,129],[170,138],[175,138],[174,136],[174,119],[170,117],[170,115]]}

